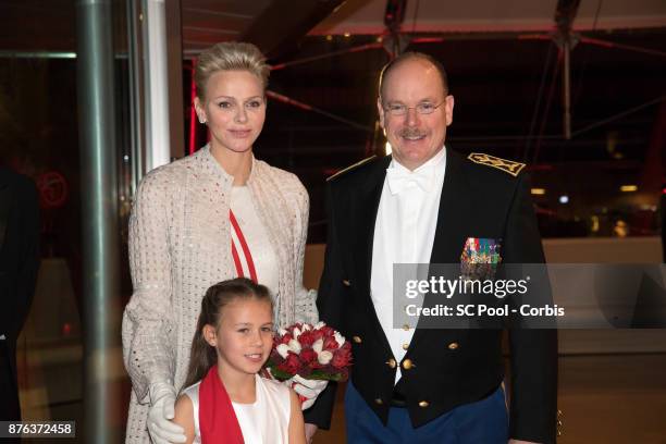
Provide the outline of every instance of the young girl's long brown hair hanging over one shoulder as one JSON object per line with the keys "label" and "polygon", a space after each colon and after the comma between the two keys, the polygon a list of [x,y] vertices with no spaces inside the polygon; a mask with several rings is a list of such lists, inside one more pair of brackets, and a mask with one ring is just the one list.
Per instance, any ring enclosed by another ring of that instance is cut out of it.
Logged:
{"label": "young girl's long brown hair hanging over one shoulder", "polygon": [[212,325],[218,330],[222,310],[237,299],[266,300],[271,305],[271,311],[273,309],[273,301],[268,288],[254,283],[249,279],[236,278],[220,282],[208,288],[201,300],[201,313],[197,322],[197,331],[192,340],[189,368],[187,369],[184,388],[203,379],[208,370],[218,362],[215,347],[208,344],[203,338],[203,326]]}

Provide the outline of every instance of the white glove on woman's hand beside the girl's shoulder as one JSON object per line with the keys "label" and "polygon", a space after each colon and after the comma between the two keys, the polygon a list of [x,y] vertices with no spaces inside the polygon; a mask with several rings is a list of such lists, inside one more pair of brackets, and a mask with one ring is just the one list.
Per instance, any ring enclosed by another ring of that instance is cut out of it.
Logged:
{"label": "white glove on woman's hand beside the girl's shoulder", "polygon": [[150,384],[148,433],[155,444],[184,443],[185,429],[171,421],[175,416],[175,388],[166,382]]}

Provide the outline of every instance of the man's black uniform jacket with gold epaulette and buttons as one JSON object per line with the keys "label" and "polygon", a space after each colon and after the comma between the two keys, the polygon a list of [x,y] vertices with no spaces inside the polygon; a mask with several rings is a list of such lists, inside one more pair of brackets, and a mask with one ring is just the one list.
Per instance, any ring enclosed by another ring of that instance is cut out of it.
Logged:
{"label": "man's black uniform jacket with gold epaulette and buttons", "polygon": [[[431,263],[459,263],[468,237],[502,239],[503,263],[544,255],[521,163],[448,150]],[[470,160],[473,159],[473,160]],[[351,342],[351,382],[385,423],[395,362],[370,297],[374,224],[390,157],[371,159],[328,183],[329,226],[317,306],[320,319]],[[510,436],[552,443],[556,433],[557,335],[510,330]],[[396,390],[414,427],[490,395],[504,379],[502,330],[416,330]],[[335,388],[306,411],[330,425]]]}

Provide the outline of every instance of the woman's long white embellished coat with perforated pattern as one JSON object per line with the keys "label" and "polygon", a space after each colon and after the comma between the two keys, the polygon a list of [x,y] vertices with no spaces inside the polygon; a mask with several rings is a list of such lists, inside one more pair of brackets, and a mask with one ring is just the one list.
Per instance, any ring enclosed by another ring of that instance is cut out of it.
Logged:
{"label": "woman's long white embellished coat with perforated pattern", "polygon": [[[123,359],[132,379],[127,443],[148,443],[148,387],[185,382],[201,298],[235,278],[229,207],[233,177],[205,147],[140,183],[130,219],[134,293],[123,313]],[[292,173],[252,159],[252,201],[279,258],[275,322],[316,322],[314,292],[303,287],[309,199]]]}

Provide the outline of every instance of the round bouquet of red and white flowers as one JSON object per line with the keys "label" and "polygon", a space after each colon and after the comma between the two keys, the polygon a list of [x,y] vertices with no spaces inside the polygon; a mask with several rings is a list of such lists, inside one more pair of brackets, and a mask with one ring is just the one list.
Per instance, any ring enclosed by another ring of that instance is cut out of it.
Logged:
{"label": "round bouquet of red and white flowers", "polygon": [[346,381],[351,363],[351,344],[323,322],[296,323],[280,329],[266,367],[279,381]]}

